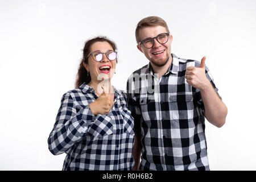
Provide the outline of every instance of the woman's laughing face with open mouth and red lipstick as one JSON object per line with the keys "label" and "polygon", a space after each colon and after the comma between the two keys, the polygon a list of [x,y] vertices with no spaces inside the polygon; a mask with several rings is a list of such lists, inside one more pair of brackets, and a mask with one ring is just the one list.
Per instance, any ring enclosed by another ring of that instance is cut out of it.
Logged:
{"label": "woman's laughing face with open mouth and red lipstick", "polygon": [[96,42],[90,46],[90,53],[93,52],[103,53],[101,61],[96,61],[93,59],[93,56],[88,57],[88,64],[84,63],[84,67],[90,73],[90,77],[93,82],[101,82],[102,80],[110,79],[115,73],[115,65],[117,60],[110,61],[106,57],[105,53],[108,51],[114,51],[112,46],[108,42]]}

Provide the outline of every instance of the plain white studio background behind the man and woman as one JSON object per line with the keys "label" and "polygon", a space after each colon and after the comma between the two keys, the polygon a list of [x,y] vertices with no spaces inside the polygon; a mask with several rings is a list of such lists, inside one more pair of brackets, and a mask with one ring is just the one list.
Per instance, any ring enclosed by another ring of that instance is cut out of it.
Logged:
{"label": "plain white studio background behind the man and woman", "polygon": [[48,151],[61,96],[74,88],[84,42],[113,39],[119,63],[113,85],[148,63],[135,27],[166,20],[172,53],[207,56],[228,106],[226,124],[206,123],[211,170],[256,170],[256,1],[0,1],[0,169],[61,170],[65,154]]}

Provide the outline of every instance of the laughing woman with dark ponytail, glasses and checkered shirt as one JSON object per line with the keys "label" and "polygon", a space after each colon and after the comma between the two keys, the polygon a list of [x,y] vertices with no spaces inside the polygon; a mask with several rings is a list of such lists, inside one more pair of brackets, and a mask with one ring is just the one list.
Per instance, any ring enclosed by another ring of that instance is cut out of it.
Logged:
{"label": "laughing woman with dark ponytail, glasses and checkered shirt", "polygon": [[65,93],[48,138],[53,155],[67,154],[63,170],[130,170],[134,121],[125,94],[111,85],[115,43],[105,37],[85,43],[76,89]]}

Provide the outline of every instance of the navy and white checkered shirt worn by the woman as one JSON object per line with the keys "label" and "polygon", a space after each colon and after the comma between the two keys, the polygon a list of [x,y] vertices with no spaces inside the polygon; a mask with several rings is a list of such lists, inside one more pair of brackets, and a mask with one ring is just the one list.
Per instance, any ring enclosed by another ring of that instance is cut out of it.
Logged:
{"label": "navy and white checkered shirt worn by the woman", "polygon": [[134,120],[125,94],[115,89],[109,114],[95,117],[89,104],[96,99],[94,89],[85,83],[63,95],[49,134],[49,150],[67,154],[63,170],[130,170]]}

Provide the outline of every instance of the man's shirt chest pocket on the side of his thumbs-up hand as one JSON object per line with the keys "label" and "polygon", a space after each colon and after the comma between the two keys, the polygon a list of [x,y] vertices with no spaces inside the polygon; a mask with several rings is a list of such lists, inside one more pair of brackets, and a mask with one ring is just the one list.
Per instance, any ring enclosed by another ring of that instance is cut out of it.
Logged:
{"label": "man's shirt chest pocket on the side of his thumbs-up hand", "polygon": [[176,122],[192,121],[194,117],[194,104],[192,94],[177,94],[170,96],[170,117]]}

